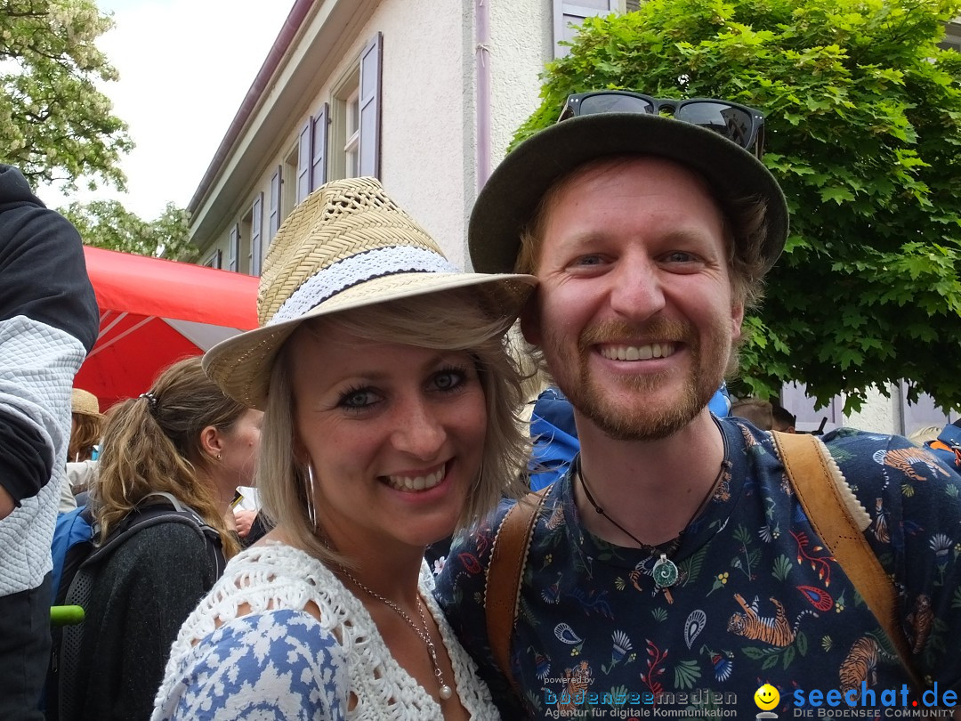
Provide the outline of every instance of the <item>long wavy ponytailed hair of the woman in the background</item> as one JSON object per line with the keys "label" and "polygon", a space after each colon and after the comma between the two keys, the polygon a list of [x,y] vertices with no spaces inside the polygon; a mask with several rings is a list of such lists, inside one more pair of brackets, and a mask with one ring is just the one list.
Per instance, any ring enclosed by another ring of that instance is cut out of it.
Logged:
{"label": "long wavy ponytailed hair of the woman in the background", "polygon": [[101,538],[150,493],[170,493],[220,534],[224,555],[239,550],[207,477],[210,462],[200,434],[227,431],[247,408],[225,396],[204,373],[199,358],[179,360],[160,373],[150,395],[111,410],[93,488]]}

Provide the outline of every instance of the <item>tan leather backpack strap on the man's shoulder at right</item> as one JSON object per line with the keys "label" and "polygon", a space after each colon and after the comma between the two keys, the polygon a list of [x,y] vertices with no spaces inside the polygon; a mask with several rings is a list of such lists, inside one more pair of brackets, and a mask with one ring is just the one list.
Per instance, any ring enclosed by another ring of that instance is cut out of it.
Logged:
{"label": "tan leather backpack strap on the man's shoulder at right", "polygon": [[871,517],[850,490],[830,452],[814,435],[772,432],[777,455],[811,528],[838,562],[884,633],[898,650],[916,689],[924,688],[911,666],[907,639],[898,622],[898,594],[864,537]]}

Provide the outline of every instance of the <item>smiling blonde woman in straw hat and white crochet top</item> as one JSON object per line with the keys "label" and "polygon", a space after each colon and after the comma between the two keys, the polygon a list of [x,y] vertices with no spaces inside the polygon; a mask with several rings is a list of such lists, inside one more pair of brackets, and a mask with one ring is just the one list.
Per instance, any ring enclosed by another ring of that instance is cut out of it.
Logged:
{"label": "smiling blonde woman in straw hat and white crochet top", "polygon": [[155,719],[496,714],[423,553],[519,490],[504,336],[532,283],[458,272],[370,178],[322,186],[284,221],[263,327],[204,360],[265,410],[275,527],[187,619]]}

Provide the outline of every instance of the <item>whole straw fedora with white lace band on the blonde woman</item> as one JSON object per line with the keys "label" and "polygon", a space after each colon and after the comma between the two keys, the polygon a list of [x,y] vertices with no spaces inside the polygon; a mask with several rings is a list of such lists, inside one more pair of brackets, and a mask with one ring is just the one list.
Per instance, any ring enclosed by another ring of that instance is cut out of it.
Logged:
{"label": "whole straw fedora with white lace band on the blonde woman", "polygon": [[270,244],[260,328],[213,346],[204,369],[231,398],[262,410],[283,341],[309,318],[476,286],[481,307],[506,329],[535,283],[533,276],[458,270],[376,179],[333,181],[297,206]]}

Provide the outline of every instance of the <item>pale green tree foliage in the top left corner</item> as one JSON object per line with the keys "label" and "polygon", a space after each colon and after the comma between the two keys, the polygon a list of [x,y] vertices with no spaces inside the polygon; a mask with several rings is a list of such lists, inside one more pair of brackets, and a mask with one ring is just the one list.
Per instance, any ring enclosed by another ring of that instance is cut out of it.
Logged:
{"label": "pale green tree foliage in the top left corner", "polygon": [[33,186],[124,189],[133,143],[97,87],[116,80],[94,44],[111,27],[93,0],[0,0],[0,161]]}

